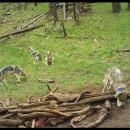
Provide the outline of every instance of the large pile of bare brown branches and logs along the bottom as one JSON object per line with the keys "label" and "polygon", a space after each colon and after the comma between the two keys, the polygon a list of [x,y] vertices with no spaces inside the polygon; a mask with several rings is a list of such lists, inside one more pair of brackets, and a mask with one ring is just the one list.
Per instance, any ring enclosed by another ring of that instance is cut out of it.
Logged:
{"label": "large pile of bare brown branches and logs along the bottom", "polygon": [[[39,80],[41,82],[41,80]],[[36,101],[31,101],[28,96],[26,103],[10,105],[1,102],[0,107],[0,125],[18,128],[38,128],[46,126],[56,126],[68,120],[69,127],[72,128],[92,128],[98,126],[111,111],[110,100],[115,99],[113,93],[91,93],[83,91],[79,94],[68,94],[55,92],[48,86],[49,92]],[[101,107],[91,106],[90,103],[105,101]],[[89,125],[76,126],[76,123],[82,121],[94,112],[101,110],[99,118]],[[75,124],[74,124],[75,123]]]}

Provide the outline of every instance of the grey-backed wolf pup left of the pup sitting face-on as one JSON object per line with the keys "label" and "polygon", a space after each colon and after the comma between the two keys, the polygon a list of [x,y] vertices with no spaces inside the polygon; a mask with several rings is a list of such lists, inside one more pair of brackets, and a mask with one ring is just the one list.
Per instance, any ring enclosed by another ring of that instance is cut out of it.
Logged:
{"label": "grey-backed wolf pup left of the pup sitting face-on", "polygon": [[39,54],[39,51],[33,49],[33,48],[30,46],[30,47],[28,47],[28,52],[34,57],[34,62],[33,62],[34,64],[37,64],[37,62],[38,62],[39,60],[42,61],[42,57],[41,57],[41,55]]}

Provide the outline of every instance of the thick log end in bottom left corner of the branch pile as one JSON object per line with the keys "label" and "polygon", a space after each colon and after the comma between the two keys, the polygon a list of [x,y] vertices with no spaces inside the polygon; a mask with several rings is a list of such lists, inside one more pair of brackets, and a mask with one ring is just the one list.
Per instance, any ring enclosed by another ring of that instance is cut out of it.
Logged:
{"label": "thick log end in bottom left corner of the branch pile", "polygon": [[7,126],[18,126],[22,123],[22,120],[13,120],[13,119],[1,119],[0,118],[0,125],[7,125]]}

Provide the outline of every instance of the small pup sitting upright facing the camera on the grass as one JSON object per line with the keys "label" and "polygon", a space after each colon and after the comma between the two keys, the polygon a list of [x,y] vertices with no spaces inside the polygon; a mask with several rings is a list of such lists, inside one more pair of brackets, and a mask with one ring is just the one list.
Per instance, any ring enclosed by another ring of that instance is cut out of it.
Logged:
{"label": "small pup sitting upright facing the camera on the grass", "polygon": [[46,58],[45,58],[45,64],[46,64],[46,66],[54,64],[53,61],[54,61],[54,57],[53,57],[51,51],[47,51],[46,52]]}

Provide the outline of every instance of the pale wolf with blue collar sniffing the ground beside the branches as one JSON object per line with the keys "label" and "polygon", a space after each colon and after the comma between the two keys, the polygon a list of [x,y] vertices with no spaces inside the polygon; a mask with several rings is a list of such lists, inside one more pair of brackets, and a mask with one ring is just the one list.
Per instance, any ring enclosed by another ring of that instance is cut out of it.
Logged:
{"label": "pale wolf with blue collar sniffing the ground beside the branches", "polygon": [[102,93],[104,93],[106,87],[108,90],[113,89],[116,93],[114,96],[117,98],[117,106],[124,106],[128,92],[126,89],[123,72],[117,67],[111,67],[107,69],[103,82],[104,88],[102,90]]}

